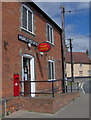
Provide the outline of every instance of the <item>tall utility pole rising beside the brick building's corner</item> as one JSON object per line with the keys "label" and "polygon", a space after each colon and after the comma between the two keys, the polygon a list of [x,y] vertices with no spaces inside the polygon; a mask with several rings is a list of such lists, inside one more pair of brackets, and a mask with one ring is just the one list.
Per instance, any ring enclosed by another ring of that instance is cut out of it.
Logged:
{"label": "tall utility pole rising beside the brick building's corner", "polygon": [[63,64],[63,93],[65,93],[65,25],[64,25],[64,13],[65,13],[65,8],[64,6],[61,6],[61,20],[62,20],[62,64]]}

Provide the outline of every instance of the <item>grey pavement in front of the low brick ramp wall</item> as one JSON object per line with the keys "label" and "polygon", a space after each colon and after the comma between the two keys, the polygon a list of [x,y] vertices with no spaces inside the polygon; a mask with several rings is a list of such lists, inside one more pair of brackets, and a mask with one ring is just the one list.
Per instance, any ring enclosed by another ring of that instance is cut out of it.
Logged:
{"label": "grey pavement in front of the low brick ramp wall", "polygon": [[80,97],[55,114],[19,110],[6,116],[6,118],[89,118],[89,94],[82,92],[80,94]]}

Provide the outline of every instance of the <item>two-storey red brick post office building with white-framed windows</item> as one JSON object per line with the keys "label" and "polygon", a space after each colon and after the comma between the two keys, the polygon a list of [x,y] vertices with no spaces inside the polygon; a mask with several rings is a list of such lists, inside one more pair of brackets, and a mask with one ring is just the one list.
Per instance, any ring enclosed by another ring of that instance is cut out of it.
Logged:
{"label": "two-storey red brick post office building with white-framed windows", "polygon": [[[48,82],[29,81],[62,79],[61,28],[33,2],[2,3],[2,20],[2,97],[35,97],[32,92],[51,89]],[[42,42],[51,45],[50,51],[40,53]]]}

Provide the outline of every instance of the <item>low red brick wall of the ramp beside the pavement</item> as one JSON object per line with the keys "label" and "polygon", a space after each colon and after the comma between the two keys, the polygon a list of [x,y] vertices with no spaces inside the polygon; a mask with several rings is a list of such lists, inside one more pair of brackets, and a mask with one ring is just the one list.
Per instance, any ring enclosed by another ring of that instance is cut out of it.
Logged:
{"label": "low red brick wall of the ramp beside the pavement", "polygon": [[[55,113],[65,105],[79,97],[78,92],[65,93],[61,96],[52,97],[16,97],[7,102],[7,112],[19,109],[32,112]],[[47,108],[47,109],[46,109]]]}

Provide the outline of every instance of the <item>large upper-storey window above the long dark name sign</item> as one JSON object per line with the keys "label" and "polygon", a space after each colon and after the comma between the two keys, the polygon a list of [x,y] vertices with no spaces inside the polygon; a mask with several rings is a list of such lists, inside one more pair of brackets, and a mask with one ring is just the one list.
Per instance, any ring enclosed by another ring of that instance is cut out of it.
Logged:
{"label": "large upper-storey window above the long dark name sign", "polygon": [[33,12],[26,5],[22,5],[22,29],[34,33]]}

